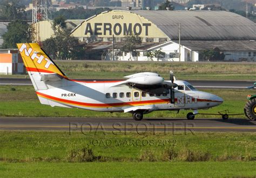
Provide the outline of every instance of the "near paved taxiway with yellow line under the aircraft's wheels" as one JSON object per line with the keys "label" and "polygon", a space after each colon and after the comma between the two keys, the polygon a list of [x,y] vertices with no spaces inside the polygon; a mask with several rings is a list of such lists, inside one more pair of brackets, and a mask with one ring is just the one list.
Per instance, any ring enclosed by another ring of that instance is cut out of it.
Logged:
{"label": "near paved taxiway with yellow line under the aircraft's wheels", "polygon": [[0,118],[1,130],[67,132],[255,132],[256,121],[246,119],[143,119],[132,118]]}

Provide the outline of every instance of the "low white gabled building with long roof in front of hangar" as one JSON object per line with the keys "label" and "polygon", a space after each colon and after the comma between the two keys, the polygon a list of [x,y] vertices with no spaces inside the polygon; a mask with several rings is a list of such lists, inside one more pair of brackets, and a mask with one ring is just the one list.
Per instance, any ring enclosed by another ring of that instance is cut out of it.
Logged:
{"label": "low white gabled building with long roof in front of hangar", "polygon": [[[105,60],[113,60],[112,45],[109,45]],[[179,50],[180,48],[180,50]],[[147,52],[160,51],[158,57],[148,57]],[[214,50],[219,53],[218,59],[211,61],[256,61],[256,40],[234,41],[169,41],[162,44],[151,44],[138,47],[137,56],[131,57],[130,53],[114,50],[114,60],[139,60],[139,61],[205,61],[205,50]]]}

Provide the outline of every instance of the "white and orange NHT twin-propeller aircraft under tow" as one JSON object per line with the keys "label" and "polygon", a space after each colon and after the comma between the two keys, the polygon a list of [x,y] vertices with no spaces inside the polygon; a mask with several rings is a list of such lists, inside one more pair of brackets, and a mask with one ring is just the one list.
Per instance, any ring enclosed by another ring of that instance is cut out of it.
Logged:
{"label": "white and orange NHT twin-propeller aircraft under tow", "polygon": [[[192,109],[187,119],[194,119],[198,109],[218,106],[223,99],[197,91],[186,81],[164,80],[157,73],[143,72],[126,76],[123,81],[71,80],[45,54],[37,43],[17,44],[26,70],[44,105],[77,107],[103,112],[129,112],[134,120],[152,111]],[[175,81],[175,83],[174,83]]]}

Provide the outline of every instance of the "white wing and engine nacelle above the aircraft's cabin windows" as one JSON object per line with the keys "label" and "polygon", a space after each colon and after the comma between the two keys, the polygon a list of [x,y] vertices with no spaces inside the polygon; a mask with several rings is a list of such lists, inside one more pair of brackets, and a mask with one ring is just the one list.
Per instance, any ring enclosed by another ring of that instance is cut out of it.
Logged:
{"label": "white wing and engine nacelle above the aircraft's cabin windows", "polygon": [[159,74],[152,72],[136,73],[126,76],[125,78],[128,79],[114,83],[110,87],[127,85],[131,88],[136,88],[137,90],[149,93],[167,94],[172,85],[171,83],[164,81],[164,78],[160,77]]}

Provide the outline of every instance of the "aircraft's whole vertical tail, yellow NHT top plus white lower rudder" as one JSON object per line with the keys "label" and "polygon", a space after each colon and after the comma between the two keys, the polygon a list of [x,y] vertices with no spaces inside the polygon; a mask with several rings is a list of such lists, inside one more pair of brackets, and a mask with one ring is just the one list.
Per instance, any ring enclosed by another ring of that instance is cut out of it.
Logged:
{"label": "aircraft's whole vertical tail, yellow NHT top plus white lower rudder", "polygon": [[66,78],[37,43],[20,43],[17,46],[35,90],[47,90],[44,79],[52,78],[50,76]]}

